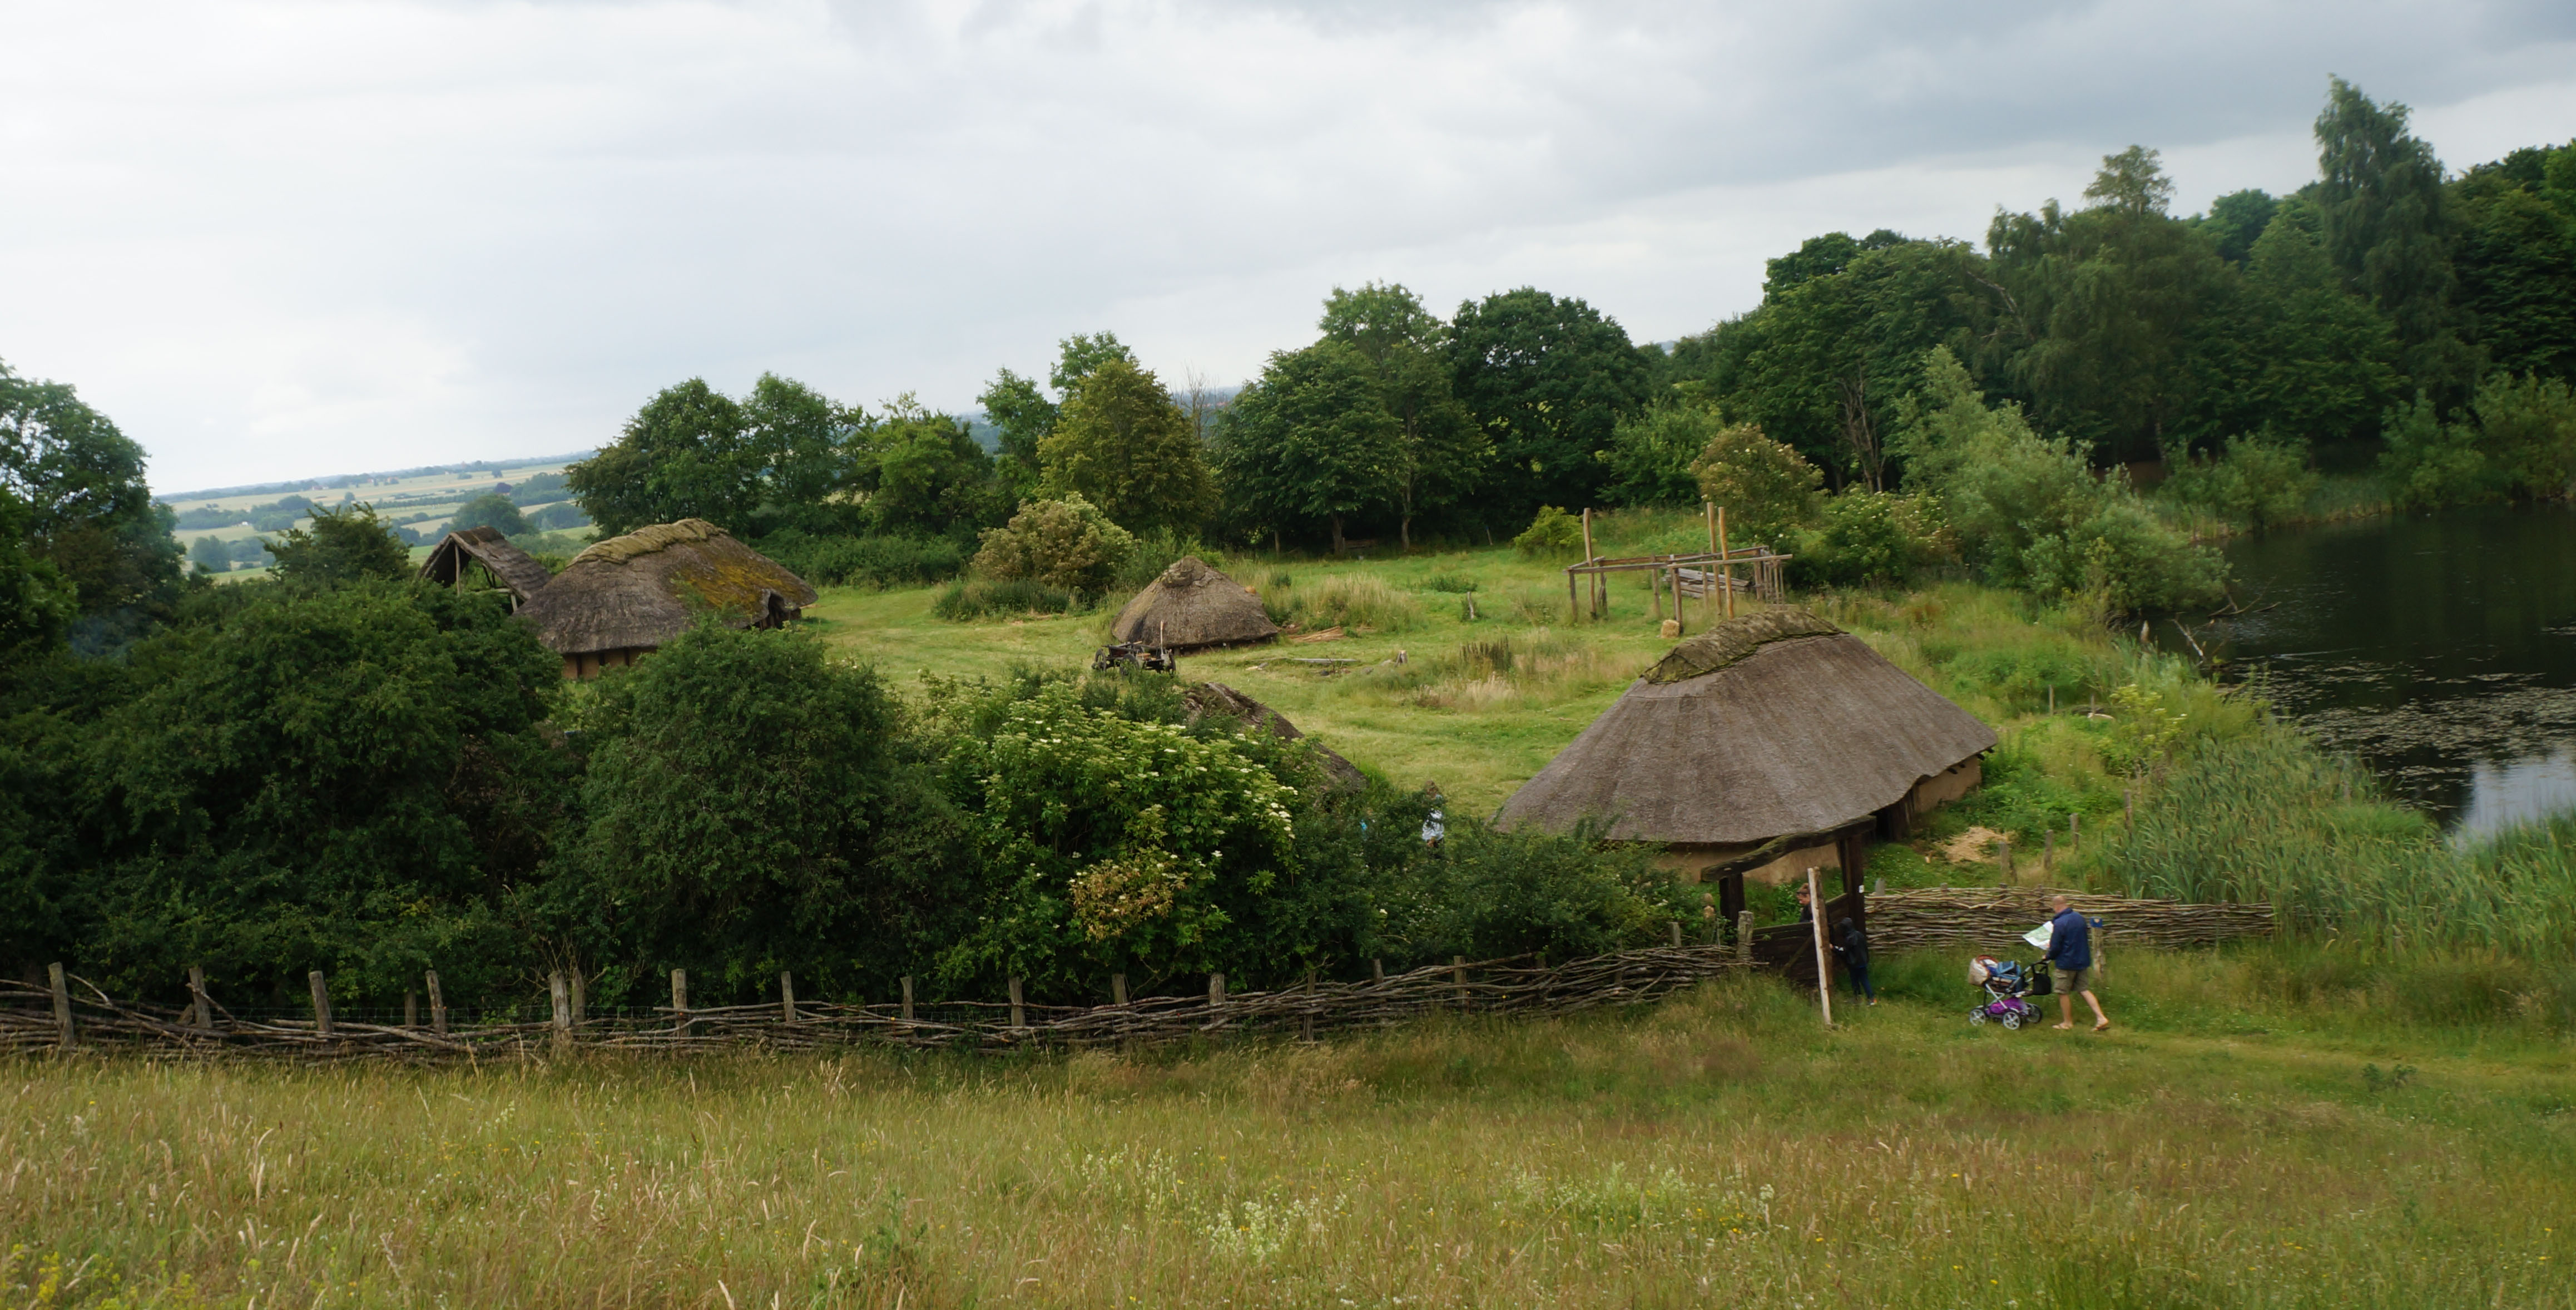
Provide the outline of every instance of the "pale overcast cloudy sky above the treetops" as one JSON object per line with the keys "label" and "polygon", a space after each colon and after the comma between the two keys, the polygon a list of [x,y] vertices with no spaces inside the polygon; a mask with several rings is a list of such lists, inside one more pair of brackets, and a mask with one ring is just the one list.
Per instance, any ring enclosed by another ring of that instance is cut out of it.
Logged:
{"label": "pale overcast cloudy sky above the treetops", "polygon": [[1981,240],[2164,152],[2576,137],[2568,3],[0,0],[0,361],[157,490],[559,454],[688,376],[974,407],[1115,330],[1236,384],[1334,286],[1636,340],[1829,230]]}

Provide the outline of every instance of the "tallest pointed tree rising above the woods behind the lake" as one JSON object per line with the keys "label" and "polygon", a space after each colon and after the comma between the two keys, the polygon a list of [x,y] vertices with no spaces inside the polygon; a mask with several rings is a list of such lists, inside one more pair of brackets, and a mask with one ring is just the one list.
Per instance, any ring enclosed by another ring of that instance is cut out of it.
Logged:
{"label": "tallest pointed tree rising above the woods behind the lake", "polygon": [[2442,160],[2406,132],[2406,106],[2378,106],[2334,77],[2316,116],[2326,255],[2344,284],[2396,322],[2406,374],[2419,387],[2465,395],[2476,361],[2452,307],[2450,219]]}

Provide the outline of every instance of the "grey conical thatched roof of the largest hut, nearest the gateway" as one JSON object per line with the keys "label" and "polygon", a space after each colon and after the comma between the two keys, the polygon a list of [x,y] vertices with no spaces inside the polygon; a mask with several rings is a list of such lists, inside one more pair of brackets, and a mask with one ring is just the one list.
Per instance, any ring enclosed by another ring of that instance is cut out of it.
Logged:
{"label": "grey conical thatched roof of the largest hut, nearest the gateway", "polygon": [[1829,833],[1994,748],[1994,730],[1860,637],[1795,609],[1728,619],[1656,663],[1502,805],[1504,828],[1667,843]]}

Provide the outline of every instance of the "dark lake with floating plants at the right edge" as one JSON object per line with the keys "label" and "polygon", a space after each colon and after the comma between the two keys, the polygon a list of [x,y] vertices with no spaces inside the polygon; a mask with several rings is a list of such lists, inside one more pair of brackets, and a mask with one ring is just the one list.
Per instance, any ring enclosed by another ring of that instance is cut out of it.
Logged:
{"label": "dark lake with floating plants at the right edge", "polygon": [[[2576,511],[2236,539],[2210,655],[2460,836],[2576,810]],[[2200,637],[2208,642],[2210,637]]]}

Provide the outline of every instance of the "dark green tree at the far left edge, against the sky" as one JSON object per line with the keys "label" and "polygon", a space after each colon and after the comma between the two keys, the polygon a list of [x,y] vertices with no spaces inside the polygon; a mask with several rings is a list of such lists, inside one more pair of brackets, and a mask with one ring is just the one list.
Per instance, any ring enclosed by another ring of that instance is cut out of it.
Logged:
{"label": "dark green tree at the far left edge, against the sky", "polygon": [[26,505],[18,542],[72,588],[75,642],[113,647],[170,614],[175,516],[152,503],[142,446],[70,384],[0,364],[0,490]]}

